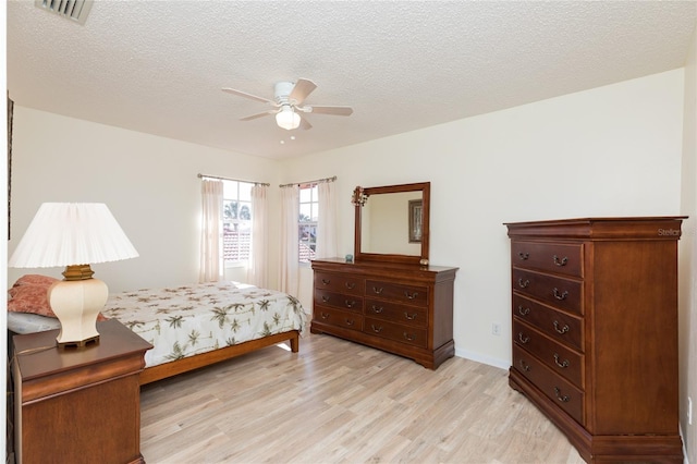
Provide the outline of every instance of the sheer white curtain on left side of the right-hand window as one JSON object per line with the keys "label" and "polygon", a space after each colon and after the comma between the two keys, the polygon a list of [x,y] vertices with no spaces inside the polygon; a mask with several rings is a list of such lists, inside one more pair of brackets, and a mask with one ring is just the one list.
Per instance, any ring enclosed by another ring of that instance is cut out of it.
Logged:
{"label": "sheer white curtain on left side of the right-hand window", "polygon": [[297,296],[299,186],[281,188],[281,291]]}

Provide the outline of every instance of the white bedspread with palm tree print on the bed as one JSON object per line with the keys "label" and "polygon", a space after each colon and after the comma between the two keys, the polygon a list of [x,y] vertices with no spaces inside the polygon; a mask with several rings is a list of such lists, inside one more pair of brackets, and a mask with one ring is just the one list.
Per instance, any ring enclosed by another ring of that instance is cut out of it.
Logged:
{"label": "white bedspread with palm tree print on the bed", "polygon": [[236,282],[115,293],[102,314],[155,346],[146,367],[307,326],[297,298]]}

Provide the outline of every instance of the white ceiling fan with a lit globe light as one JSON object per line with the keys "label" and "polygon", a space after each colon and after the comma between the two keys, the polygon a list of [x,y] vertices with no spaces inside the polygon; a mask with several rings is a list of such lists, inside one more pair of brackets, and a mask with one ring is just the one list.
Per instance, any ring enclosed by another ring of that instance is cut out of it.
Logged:
{"label": "white ceiling fan with a lit globe light", "polygon": [[273,109],[252,114],[246,118],[240,119],[240,121],[250,121],[253,119],[262,118],[265,115],[276,114],[276,123],[279,127],[288,131],[293,129],[311,129],[311,124],[307,122],[305,118],[301,118],[299,113],[317,113],[317,114],[331,114],[331,115],[351,115],[353,108],[351,107],[327,107],[315,105],[303,105],[307,96],[317,88],[317,85],[306,78],[299,78],[296,83],[292,82],[279,82],[273,87],[274,99],[257,97],[256,95],[247,94],[246,91],[236,90],[234,88],[223,88],[222,91],[236,95],[252,100],[269,103]]}

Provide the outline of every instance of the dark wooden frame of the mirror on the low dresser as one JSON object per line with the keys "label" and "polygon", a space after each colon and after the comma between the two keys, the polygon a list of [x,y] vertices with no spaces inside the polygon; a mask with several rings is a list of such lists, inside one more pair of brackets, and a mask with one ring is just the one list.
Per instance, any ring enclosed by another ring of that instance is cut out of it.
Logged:
{"label": "dark wooden frame of the mirror on the low dresser", "polygon": [[[356,187],[359,190],[359,187]],[[371,195],[390,194],[390,193],[405,193],[405,192],[421,192],[421,254],[420,256],[413,255],[392,255],[382,253],[363,253],[360,251],[360,218],[363,211],[363,204],[360,202],[354,202],[356,208],[355,230],[354,230],[354,255],[356,261],[380,261],[380,262],[400,262],[407,265],[428,265],[428,240],[429,240],[429,223],[430,223],[430,197],[431,197],[431,183],[419,182],[414,184],[401,184],[401,185],[386,185],[381,187],[366,187],[363,188],[363,195],[366,200],[369,202]],[[356,193],[354,192],[354,199]],[[365,203],[365,202],[364,202]]]}

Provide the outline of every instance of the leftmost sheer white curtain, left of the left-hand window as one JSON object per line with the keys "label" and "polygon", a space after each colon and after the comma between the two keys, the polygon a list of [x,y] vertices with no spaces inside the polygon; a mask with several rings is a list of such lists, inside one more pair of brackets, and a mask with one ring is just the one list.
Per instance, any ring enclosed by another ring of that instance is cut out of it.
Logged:
{"label": "leftmost sheer white curtain, left of the left-hand window", "polygon": [[222,181],[201,180],[200,271],[198,281],[217,282],[222,279]]}

